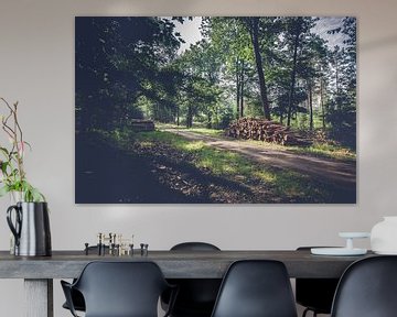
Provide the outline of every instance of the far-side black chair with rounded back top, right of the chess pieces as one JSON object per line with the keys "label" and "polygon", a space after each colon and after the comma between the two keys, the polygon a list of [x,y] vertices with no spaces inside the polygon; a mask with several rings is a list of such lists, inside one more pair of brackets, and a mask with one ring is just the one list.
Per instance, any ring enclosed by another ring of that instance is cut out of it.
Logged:
{"label": "far-side black chair with rounded back top, right of the chess pieces", "polygon": [[[221,251],[206,242],[183,242],[171,248],[171,251]],[[172,317],[210,317],[214,308],[222,280],[217,278],[174,278],[169,280],[178,285],[179,293],[171,311]],[[169,296],[162,296],[162,306],[167,307]]]}

